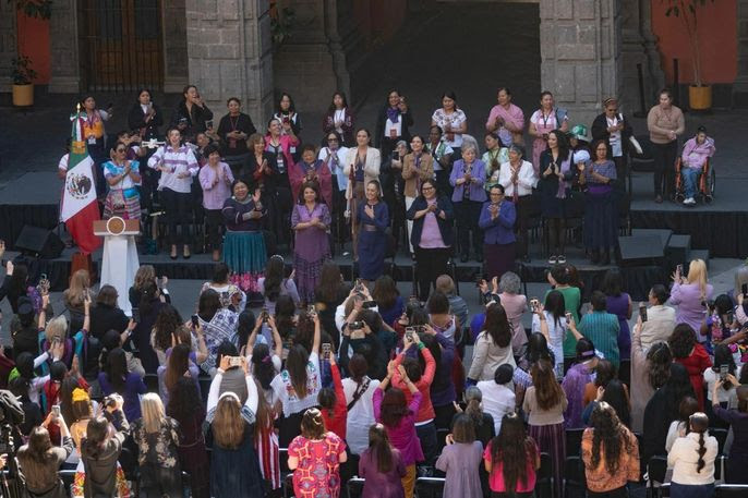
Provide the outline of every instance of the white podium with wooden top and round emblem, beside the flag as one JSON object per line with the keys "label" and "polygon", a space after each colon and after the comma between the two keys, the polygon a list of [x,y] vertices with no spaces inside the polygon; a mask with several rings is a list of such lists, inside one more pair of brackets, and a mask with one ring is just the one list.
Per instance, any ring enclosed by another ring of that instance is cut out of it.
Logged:
{"label": "white podium with wooden top and round emblem, beside the flag", "polygon": [[104,236],[100,286],[112,286],[119,297],[117,304],[125,315],[132,316],[129,292],[140,267],[135,235],[141,233],[140,220],[125,220],[119,216],[94,221],[94,234]]}

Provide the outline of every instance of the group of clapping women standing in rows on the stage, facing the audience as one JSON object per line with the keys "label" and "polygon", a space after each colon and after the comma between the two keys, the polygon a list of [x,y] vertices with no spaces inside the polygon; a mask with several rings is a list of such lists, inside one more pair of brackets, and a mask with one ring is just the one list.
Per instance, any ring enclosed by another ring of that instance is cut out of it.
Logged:
{"label": "group of clapping women standing in rows on the stage, facing the audience", "polygon": [[[342,93],[333,96],[322,129],[312,131],[302,126],[288,94],[257,130],[238,98],[228,99],[228,112],[214,127],[214,113],[195,86],[184,88],[168,121],[143,89],[128,113],[129,129],[106,147],[104,123],[113,110],[98,109],[92,96],[82,104],[105,218],[164,214],[164,223],[143,217],[144,251],[160,244],[172,259],[189,258],[195,248],[210,251],[244,291],[257,290],[267,255],[283,244],[293,254],[303,302],[313,301],[325,260],[349,241],[366,281],[383,275],[387,255],[400,247],[410,254],[422,301],[453,255],[485,263],[488,280],[517,259],[528,263],[534,219],[542,222],[550,264],[566,263],[569,221],[580,219],[588,257],[610,265],[618,255],[627,158],[638,147],[616,98],[602,102],[590,136],[586,124],[571,124],[574,116],[550,92],[526,120],[506,87],[498,89],[484,130],[468,129],[453,92],[444,93],[431,122],[421,124],[406,97],[393,90],[373,134],[357,126]],[[414,133],[417,124],[423,135]],[[675,189],[685,131],[669,90],[660,94],[648,129],[655,201],[662,202]],[[699,174],[714,151],[701,127],[687,142],[684,204],[696,204]],[[67,157],[60,161],[62,178]]]}

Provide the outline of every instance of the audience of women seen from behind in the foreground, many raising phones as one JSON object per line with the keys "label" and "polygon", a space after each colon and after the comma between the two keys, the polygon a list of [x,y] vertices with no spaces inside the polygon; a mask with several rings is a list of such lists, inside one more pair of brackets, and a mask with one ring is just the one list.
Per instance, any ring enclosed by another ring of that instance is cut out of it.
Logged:
{"label": "audience of women seen from behind in the foreground, many raising phones", "polygon": [[[304,208],[316,193],[305,190]],[[237,192],[232,222],[264,216],[244,217],[242,197],[262,201]],[[410,211],[427,210],[430,198]],[[363,212],[376,219],[375,208]],[[414,245],[435,252],[419,245],[424,216],[412,218]],[[371,232],[358,234],[360,247]],[[280,256],[266,262],[252,309],[217,263],[188,318],[170,303],[168,279],[144,265],[130,319],[116,289],[94,295],[85,270],[56,311],[45,282],[8,263],[0,299],[14,317],[0,386],[25,418],[4,460],[28,493],[67,496],[68,469],[75,497],[179,497],[184,486],[196,498],[277,497],[285,486],[337,497],[359,476],[361,496],[412,498],[419,476],[437,475],[447,498],[563,498],[578,462],[588,496],[625,497],[664,459],[672,497],[710,497],[720,454],[722,479],[748,484],[748,266],[715,296],[704,263],[692,260],[638,304],[617,270],[590,303],[569,264],[551,269],[542,297],[522,295],[507,270],[480,282],[474,316],[447,275],[421,300],[403,299],[388,276],[349,284],[331,262],[310,292],[285,267]]]}

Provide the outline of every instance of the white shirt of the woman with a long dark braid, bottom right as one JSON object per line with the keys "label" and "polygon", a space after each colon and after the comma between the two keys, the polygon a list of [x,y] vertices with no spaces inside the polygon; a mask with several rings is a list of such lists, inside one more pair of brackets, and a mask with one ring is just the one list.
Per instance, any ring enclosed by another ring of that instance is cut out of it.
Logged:
{"label": "white shirt of the woman with a long dark braid, bottom right", "polygon": [[667,466],[673,467],[671,482],[677,484],[711,484],[714,482],[714,459],[716,458],[716,438],[704,433],[704,447],[707,452],[703,456],[705,465],[701,472],[697,472],[699,461],[699,435],[689,433],[686,437],[679,437],[673,444],[673,448],[667,453]]}

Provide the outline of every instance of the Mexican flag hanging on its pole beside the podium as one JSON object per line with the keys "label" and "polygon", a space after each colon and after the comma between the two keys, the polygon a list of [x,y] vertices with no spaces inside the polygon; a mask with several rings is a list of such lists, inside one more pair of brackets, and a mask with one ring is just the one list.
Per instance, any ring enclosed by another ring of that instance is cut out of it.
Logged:
{"label": "Mexican flag hanging on its pole beside the podium", "polygon": [[96,202],[95,165],[88,156],[80,110],[71,114],[70,120],[73,123],[72,144],[60,218],[81,252],[91,254],[101,245],[101,239],[94,235],[94,221],[100,219]]}

